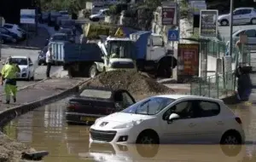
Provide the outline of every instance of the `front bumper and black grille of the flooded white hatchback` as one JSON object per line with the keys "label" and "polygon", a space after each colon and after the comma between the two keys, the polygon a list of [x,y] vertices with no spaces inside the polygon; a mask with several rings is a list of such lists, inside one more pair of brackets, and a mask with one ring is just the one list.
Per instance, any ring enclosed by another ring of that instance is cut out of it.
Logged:
{"label": "front bumper and black grille of the flooded white hatchback", "polygon": [[128,144],[136,143],[137,133],[132,132],[131,128],[111,129],[111,130],[96,130],[94,125],[90,127],[90,142],[109,142]]}

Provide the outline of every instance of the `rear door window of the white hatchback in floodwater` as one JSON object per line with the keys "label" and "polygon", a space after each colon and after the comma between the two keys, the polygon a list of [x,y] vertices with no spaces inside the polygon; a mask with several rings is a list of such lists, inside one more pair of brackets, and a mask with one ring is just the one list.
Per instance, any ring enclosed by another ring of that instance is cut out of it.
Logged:
{"label": "rear door window of the white hatchback in floodwater", "polygon": [[212,101],[199,101],[199,108],[198,118],[216,116],[220,112],[218,103]]}

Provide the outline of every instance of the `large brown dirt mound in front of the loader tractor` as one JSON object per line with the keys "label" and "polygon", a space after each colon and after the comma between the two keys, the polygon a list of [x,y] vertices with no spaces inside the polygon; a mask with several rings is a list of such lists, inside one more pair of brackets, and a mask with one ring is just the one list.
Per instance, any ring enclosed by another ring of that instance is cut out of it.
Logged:
{"label": "large brown dirt mound in front of the loader tractor", "polygon": [[173,90],[136,71],[102,72],[84,86],[128,90],[132,95],[172,94]]}

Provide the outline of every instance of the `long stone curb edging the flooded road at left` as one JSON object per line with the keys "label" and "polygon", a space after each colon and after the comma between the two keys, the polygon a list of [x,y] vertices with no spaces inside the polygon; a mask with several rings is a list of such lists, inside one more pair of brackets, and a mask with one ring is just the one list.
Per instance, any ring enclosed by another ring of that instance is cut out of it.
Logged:
{"label": "long stone curb edging the flooded road at left", "polygon": [[56,95],[50,95],[48,97],[45,97],[43,99],[39,99],[38,101],[32,101],[29,103],[21,104],[20,106],[11,107],[9,109],[4,110],[0,113],[0,127],[3,127],[4,124],[7,124],[9,121],[19,117],[20,115],[30,112],[38,107],[43,107],[44,105],[47,105],[49,103],[59,101],[65,97],[67,97],[70,94],[73,94],[75,92],[79,92],[79,87],[84,84],[85,82],[89,81],[89,79],[85,81],[79,82],[79,84],[74,85],[72,88],[61,91],[60,93]]}

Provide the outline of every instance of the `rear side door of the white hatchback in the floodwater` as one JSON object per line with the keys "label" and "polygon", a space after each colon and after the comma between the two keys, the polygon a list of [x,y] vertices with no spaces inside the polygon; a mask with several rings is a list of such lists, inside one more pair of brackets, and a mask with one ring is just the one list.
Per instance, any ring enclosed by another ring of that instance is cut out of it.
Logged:
{"label": "rear side door of the white hatchback in the floodwater", "polygon": [[224,123],[218,116],[220,107],[218,102],[198,100],[194,102],[193,137],[188,143],[218,143],[224,129]]}

